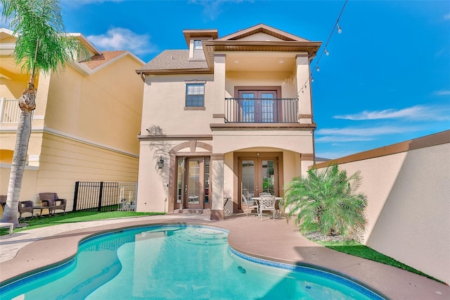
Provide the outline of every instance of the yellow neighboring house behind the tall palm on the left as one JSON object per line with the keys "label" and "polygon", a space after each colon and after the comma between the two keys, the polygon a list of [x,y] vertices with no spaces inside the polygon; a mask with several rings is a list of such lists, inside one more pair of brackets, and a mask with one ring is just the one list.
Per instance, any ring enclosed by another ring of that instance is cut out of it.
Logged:
{"label": "yellow neighboring house behind the tall palm on the left", "polygon": [[[99,51],[83,35],[90,61],[39,75],[37,107],[20,200],[38,202],[39,192],[57,192],[72,209],[75,182],[136,182],[142,113],[143,61],[129,51]],[[29,77],[13,58],[16,38],[0,29],[0,194],[8,190],[18,125],[17,99]],[[117,199],[118,201],[119,199]]]}

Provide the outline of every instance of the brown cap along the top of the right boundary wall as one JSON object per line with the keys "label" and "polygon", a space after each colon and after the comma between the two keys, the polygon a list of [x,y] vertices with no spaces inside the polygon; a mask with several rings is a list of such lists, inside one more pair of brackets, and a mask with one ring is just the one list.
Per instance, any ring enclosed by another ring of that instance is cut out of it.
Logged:
{"label": "brown cap along the top of the right boundary wall", "polygon": [[[389,146],[380,147],[377,149],[372,149],[357,154],[352,154],[338,159],[333,159],[331,161],[326,161],[323,163],[318,163],[315,165],[317,168],[325,168],[333,163],[350,163],[352,161],[363,161],[368,158],[375,158],[380,156],[387,156],[391,154],[397,154],[401,152],[411,151],[415,149],[425,148],[429,146],[436,146],[440,144],[450,143],[450,130],[435,133],[434,135],[427,135],[425,137],[420,137],[418,139],[411,139],[409,141],[400,142],[397,144],[392,144]],[[310,167],[312,168],[312,166]]]}

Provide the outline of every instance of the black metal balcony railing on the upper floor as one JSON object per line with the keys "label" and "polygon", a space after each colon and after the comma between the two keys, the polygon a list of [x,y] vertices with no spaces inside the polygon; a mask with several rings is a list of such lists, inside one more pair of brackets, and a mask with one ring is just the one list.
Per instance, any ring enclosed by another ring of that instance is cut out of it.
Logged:
{"label": "black metal balcony railing on the upper floor", "polygon": [[225,123],[298,123],[298,99],[225,98]]}

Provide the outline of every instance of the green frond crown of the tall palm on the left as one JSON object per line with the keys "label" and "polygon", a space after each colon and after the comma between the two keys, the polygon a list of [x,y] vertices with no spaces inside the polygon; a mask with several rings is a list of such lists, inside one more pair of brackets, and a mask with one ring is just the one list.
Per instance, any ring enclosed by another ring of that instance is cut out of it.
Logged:
{"label": "green frond crown of the tall palm on the left", "polygon": [[11,20],[17,35],[15,63],[34,77],[65,68],[87,50],[75,37],[65,35],[60,2],[57,0],[1,0],[2,15]]}

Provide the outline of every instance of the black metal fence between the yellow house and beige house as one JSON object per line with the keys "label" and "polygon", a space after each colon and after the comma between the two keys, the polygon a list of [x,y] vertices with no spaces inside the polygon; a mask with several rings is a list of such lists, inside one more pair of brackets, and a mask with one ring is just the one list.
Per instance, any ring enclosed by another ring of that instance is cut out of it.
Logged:
{"label": "black metal fence between the yellow house and beige house", "polygon": [[136,182],[75,182],[73,211],[136,211]]}

